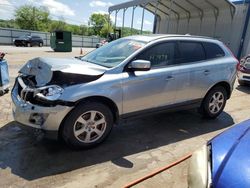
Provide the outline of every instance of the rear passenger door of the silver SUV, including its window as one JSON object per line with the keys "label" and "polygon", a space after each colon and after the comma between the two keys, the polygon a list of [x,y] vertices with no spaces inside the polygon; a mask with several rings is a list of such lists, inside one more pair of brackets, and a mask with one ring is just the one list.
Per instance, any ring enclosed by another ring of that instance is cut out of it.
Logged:
{"label": "rear passenger door of the silver SUV, including its window", "polygon": [[205,59],[206,54],[202,43],[189,40],[178,42],[178,55],[176,57],[176,66],[179,67],[176,88],[177,103],[200,98],[200,86],[206,79],[206,69],[203,66]]}

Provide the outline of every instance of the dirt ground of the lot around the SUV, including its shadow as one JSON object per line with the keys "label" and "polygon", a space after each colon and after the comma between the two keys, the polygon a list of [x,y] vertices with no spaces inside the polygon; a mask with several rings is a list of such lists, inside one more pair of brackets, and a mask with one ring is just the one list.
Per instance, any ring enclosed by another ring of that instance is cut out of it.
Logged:
{"label": "dirt ground of the lot around the SUV, including its shadow", "polygon": [[[84,53],[91,49],[83,49]],[[48,47],[0,46],[7,52],[11,84],[18,69],[37,56],[73,57]],[[56,141],[38,140],[11,115],[10,94],[0,97],[0,187],[123,187],[128,182],[195,151],[218,133],[249,119],[250,87],[235,84],[225,111],[215,120],[195,110],[130,119],[114,127],[99,147],[72,151]],[[187,187],[188,160],[135,187]]]}

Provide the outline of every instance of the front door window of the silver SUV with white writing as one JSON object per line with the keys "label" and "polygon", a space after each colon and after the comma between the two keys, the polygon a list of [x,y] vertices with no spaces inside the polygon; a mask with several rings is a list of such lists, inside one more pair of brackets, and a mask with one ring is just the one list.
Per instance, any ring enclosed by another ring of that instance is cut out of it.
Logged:
{"label": "front door window of the silver SUV with white writing", "polygon": [[148,60],[152,67],[163,67],[174,64],[175,42],[156,44],[139,54],[136,59]]}

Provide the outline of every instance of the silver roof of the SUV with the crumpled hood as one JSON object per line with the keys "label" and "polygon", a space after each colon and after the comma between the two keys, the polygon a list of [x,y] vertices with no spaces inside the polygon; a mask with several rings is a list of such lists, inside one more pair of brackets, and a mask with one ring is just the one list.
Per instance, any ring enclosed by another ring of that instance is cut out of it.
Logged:
{"label": "silver roof of the SUV with the crumpled hood", "polygon": [[149,35],[134,35],[134,36],[129,36],[126,37],[128,39],[135,39],[135,40],[141,40],[144,42],[152,42],[155,40],[159,40],[159,39],[164,39],[164,38],[183,38],[183,39],[209,39],[212,41],[217,41],[214,38],[211,37],[205,37],[205,36],[195,36],[195,35],[177,35],[177,34],[149,34]]}

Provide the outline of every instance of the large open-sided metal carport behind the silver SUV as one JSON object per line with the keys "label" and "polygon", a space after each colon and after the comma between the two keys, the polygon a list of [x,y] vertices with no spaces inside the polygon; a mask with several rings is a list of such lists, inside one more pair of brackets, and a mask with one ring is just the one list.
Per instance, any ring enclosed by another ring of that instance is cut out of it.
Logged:
{"label": "large open-sided metal carport behind the silver SUV", "polygon": [[[126,15],[132,9],[131,17]],[[237,54],[241,41],[241,29],[245,19],[245,7],[237,7],[229,0],[134,0],[109,7],[109,14],[122,11],[122,27],[125,19],[134,26],[134,12],[142,8],[141,32],[145,10],[154,15],[153,33],[191,34],[217,38]],[[136,18],[138,19],[138,18]]]}

